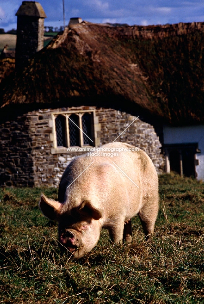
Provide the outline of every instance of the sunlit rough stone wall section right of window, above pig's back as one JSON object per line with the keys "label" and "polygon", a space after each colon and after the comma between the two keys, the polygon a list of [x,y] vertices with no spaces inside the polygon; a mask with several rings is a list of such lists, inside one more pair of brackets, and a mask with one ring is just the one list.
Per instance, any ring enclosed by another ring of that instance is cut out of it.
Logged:
{"label": "sunlit rough stone wall section right of window, above pig's back", "polygon": [[[153,126],[139,118],[134,121],[135,116],[114,109],[99,109],[96,115],[99,116],[99,123],[101,124],[101,144],[111,143],[128,127],[116,142],[130,143],[144,150],[153,161],[157,173],[162,173],[164,158],[161,155],[159,137]],[[130,123],[132,124],[130,125]]]}

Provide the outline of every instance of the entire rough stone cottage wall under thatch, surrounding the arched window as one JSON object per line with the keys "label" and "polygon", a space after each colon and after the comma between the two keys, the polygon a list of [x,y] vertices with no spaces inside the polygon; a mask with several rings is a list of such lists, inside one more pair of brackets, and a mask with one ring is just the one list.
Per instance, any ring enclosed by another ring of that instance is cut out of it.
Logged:
{"label": "entire rough stone cottage wall under thatch, surrounding the arched window", "polygon": [[[7,186],[54,186],[58,187],[61,176],[69,162],[84,152],[51,154],[53,148],[52,113],[60,111],[93,110],[95,107],[47,109],[29,112],[16,121],[0,126],[0,185]],[[114,109],[95,109],[100,124],[97,134],[98,146],[110,143],[136,118]],[[154,127],[136,119],[116,140],[143,149],[161,173],[164,158],[161,144]]]}

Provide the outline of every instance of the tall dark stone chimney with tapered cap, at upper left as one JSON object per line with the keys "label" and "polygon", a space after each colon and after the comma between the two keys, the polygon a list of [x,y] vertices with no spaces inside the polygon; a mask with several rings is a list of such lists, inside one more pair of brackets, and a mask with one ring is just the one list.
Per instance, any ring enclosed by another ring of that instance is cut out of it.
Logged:
{"label": "tall dark stone chimney with tapered cap, at upper left", "polygon": [[16,69],[21,69],[43,48],[44,19],[39,2],[23,1],[17,13]]}

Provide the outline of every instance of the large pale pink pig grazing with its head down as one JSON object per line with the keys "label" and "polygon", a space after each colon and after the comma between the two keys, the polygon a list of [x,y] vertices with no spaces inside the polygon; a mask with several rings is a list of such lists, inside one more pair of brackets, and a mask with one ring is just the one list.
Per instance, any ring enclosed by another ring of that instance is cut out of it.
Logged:
{"label": "large pale pink pig grazing with its head down", "polygon": [[158,177],[150,157],[126,143],[109,143],[102,149],[70,162],[60,181],[58,201],[42,194],[39,202],[43,215],[58,221],[59,242],[73,258],[95,247],[102,227],[113,242],[131,242],[131,218],[136,214],[146,240],[154,233]]}

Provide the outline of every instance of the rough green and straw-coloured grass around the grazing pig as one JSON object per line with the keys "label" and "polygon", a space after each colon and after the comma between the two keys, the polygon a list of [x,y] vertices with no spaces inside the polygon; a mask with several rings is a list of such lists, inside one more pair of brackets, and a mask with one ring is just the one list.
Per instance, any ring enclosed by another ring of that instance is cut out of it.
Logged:
{"label": "rough green and straw-coloured grass around the grazing pig", "polygon": [[38,209],[55,188],[0,189],[0,303],[204,303],[204,187],[160,176],[160,211],[151,242],[133,219],[133,242],[97,246],[71,261],[57,224]]}

